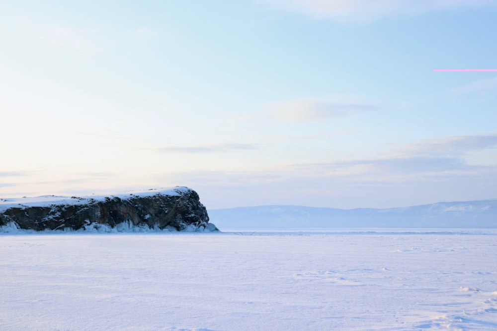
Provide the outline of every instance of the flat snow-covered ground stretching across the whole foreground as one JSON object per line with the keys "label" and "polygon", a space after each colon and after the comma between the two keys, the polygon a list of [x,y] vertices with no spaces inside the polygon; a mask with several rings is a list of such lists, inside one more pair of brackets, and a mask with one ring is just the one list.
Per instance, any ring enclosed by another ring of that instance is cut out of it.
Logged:
{"label": "flat snow-covered ground stretching across the whole foreground", "polygon": [[1,235],[0,330],[497,329],[496,230],[387,231]]}

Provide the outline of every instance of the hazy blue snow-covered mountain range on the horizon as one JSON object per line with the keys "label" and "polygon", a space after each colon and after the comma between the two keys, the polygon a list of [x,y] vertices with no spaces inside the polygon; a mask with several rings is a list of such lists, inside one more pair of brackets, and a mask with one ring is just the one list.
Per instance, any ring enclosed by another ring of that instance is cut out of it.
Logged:
{"label": "hazy blue snow-covered mountain range on the horizon", "polygon": [[402,208],[336,209],[266,205],[208,210],[223,229],[497,228],[497,199],[438,202]]}

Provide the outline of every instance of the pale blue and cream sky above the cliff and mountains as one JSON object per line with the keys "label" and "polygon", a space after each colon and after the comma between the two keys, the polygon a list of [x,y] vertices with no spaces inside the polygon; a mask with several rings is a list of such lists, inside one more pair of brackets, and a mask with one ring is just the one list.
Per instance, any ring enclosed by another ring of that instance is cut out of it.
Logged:
{"label": "pale blue and cream sky above the cliff and mountains", "polygon": [[497,198],[497,1],[0,1],[0,197]]}

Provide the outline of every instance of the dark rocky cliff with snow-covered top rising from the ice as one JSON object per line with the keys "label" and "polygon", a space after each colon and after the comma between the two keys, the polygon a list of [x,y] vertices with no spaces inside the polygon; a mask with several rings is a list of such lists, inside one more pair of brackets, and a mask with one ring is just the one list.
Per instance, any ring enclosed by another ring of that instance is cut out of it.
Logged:
{"label": "dark rocky cliff with snow-covered top rising from the ice", "polygon": [[0,199],[0,228],[217,231],[198,194],[186,187],[110,196]]}

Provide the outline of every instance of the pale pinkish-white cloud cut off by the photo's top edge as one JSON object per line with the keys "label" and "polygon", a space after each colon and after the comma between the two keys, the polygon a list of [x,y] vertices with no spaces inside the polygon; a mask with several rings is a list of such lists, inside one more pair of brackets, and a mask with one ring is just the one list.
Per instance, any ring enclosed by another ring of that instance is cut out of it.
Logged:
{"label": "pale pinkish-white cloud cut off by the photo's top edge", "polygon": [[368,22],[387,16],[433,10],[495,6],[492,0],[264,0],[289,10],[318,18],[347,22]]}

